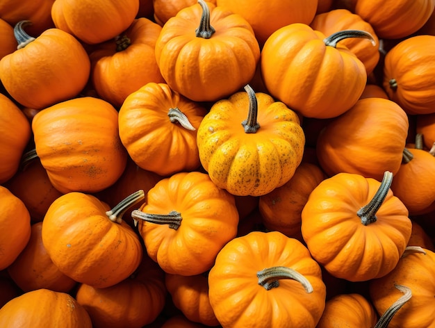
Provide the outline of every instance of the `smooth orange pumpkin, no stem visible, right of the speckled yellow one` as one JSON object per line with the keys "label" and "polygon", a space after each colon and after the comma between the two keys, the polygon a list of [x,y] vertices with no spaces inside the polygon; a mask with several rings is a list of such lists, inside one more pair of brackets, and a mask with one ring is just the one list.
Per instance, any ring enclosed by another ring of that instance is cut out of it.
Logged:
{"label": "smooth orange pumpkin, no stem visible, right of the speckled yellow one", "polygon": [[329,177],[346,172],[381,181],[385,170],[400,169],[408,128],[406,113],[394,101],[360,99],[322,130],[318,161]]}

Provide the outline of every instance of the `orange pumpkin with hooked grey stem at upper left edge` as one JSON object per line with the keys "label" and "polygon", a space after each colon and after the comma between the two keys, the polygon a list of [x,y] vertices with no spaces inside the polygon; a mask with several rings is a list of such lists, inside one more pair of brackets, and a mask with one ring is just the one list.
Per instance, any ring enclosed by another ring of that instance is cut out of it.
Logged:
{"label": "orange pumpkin with hooked grey stem at upper left edge", "polygon": [[18,49],[0,60],[5,89],[19,104],[35,109],[78,95],[90,74],[83,46],[58,28],[33,38],[24,31],[27,24],[29,21],[15,25]]}

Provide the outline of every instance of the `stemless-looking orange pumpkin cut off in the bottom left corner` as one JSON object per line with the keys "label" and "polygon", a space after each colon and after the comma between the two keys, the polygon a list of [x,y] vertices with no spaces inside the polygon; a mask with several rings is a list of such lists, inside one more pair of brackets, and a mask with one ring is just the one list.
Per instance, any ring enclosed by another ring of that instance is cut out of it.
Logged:
{"label": "stemless-looking orange pumpkin cut off in the bottom left corner", "polygon": [[6,303],[0,309],[0,326],[92,328],[92,323],[74,297],[41,288]]}

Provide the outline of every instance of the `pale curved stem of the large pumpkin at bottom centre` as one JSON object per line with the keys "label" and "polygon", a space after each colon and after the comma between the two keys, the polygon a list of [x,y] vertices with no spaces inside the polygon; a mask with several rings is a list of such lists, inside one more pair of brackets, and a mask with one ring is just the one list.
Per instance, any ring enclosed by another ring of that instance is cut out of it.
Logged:
{"label": "pale curved stem of the large pumpkin at bottom centre", "polygon": [[265,268],[257,272],[258,285],[263,286],[266,290],[277,288],[279,279],[293,279],[298,281],[304,287],[306,293],[313,293],[313,286],[308,279],[302,274],[284,266]]}

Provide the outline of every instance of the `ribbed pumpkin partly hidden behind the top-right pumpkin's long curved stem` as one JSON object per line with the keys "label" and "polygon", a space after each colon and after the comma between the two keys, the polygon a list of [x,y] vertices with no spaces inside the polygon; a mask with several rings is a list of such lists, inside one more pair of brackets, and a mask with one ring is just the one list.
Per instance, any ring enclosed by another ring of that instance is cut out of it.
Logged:
{"label": "ribbed pumpkin partly hidden behind the top-right pumpkin's long curved stem", "polygon": [[338,31],[360,30],[370,33],[375,40],[375,46],[360,38],[347,38],[341,41],[341,45],[352,51],[366,67],[367,75],[373,72],[379,62],[379,40],[372,26],[363,20],[359,15],[347,9],[334,9],[326,13],[315,15],[310,23],[311,28],[320,31],[325,35],[331,35]]}

